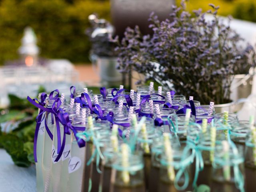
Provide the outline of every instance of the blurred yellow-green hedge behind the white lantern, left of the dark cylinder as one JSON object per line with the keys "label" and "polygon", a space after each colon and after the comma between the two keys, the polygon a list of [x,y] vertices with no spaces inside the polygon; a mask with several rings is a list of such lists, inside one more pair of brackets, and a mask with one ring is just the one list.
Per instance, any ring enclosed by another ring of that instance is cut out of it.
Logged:
{"label": "blurred yellow-green hedge behind the white lantern, left of the dark cylinder", "polygon": [[23,30],[31,26],[41,56],[87,62],[88,16],[110,19],[108,0],[0,0],[0,64],[18,58]]}

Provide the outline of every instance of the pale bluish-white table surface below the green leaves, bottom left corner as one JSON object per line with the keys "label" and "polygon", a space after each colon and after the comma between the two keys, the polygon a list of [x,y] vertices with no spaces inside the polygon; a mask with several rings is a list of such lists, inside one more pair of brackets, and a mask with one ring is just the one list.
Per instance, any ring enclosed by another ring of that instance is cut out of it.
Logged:
{"label": "pale bluish-white table surface below the green leaves, bottom left corner", "polygon": [[36,192],[36,166],[18,167],[0,149],[0,192]]}

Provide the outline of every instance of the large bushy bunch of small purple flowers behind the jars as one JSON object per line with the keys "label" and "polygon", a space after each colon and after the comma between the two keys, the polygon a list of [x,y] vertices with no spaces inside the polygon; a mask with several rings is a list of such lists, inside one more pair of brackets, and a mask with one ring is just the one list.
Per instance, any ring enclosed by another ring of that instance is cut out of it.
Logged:
{"label": "large bushy bunch of small purple flowers behind the jars", "polygon": [[[152,36],[143,36],[138,27],[127,28],[121,42],[113,40],[118,44],[118,69],[135,70],[167,88],[172,84],[202,104],[230,102],[232,77],[248,73],[256,65],[256,54],[251,45],[239,46],[242,38],[217,17],[219,7],[210,6],[212,10],[190,14],[182,1],[162,22],[152,13]],[[207,21],[206,13],[213,19]]]}

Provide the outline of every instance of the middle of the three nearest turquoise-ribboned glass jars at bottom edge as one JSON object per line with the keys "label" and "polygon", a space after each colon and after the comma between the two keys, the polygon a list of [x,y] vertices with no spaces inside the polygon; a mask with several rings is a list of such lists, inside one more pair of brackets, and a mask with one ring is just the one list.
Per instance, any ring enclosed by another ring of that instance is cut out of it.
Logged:
{"label": "middle of the three nearest turquoise-ribboned glass jars at bottom edge", "polygon": [[[192,163],[191,150],[186,143],[172,143],[172,161],[168,159],[164,150],[161,154],[159,191],[176,192],[188,190],[190,184],[190,166]],[[170,172],[173,170],[172,172]],[[171,176],[171,174],[174,174]]]}

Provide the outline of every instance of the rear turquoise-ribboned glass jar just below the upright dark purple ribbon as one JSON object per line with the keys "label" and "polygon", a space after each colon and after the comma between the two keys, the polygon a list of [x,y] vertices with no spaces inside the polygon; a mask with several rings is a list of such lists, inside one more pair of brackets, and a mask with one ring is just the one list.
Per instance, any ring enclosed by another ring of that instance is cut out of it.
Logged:
{"label": "rear turquoise-ribboned glass jar just below the upright dark purple ribbon", "polygon": [[171,133],[177,134],[180,140],[187,139],[187,128],[188,123],[195,122],[195,116],[191,115],[188,122],[186,122],[186,114],[175,114],[170,115],[170,123],[171,123]]}

